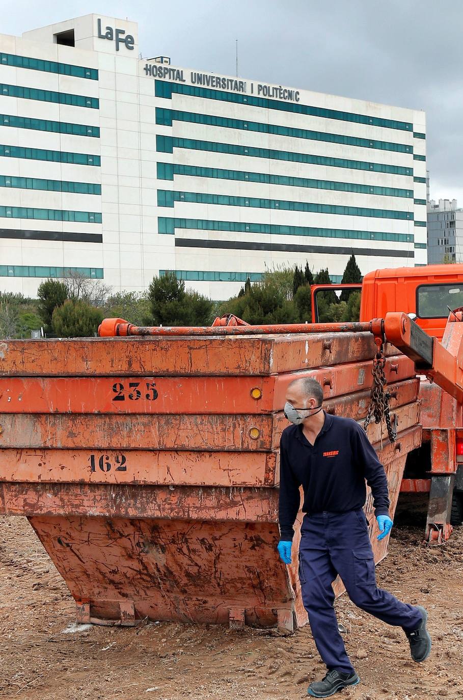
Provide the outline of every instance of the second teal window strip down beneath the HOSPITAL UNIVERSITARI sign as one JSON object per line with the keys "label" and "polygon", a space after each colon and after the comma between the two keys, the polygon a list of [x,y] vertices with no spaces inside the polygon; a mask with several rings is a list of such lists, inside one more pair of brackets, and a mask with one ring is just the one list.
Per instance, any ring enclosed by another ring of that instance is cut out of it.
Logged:
{"label": "second teal window strip down beneath the HOSPITAL UNIVERSITARI sign", "polygon": [[382,151],[396,151],[397,153],[413,153],[413,146],[408,144],[394,144],[389,141],[378,141],[376,139],[363,139],[360,137],[344,136],[343,134],[327,134],[307,129],[296,129],[294,127],[284,127],[276,124],[264,124],[251,122],[243,119],[231,119],[228,117],[218,117],[210,114],[198,114],[195,112],[185,112],[176,109],[164,109],[156,107],[156,123],[162,126],[171,126],[173,121],[192,122],[194,124],[205,124],[215,127],[226,127],[227,129],[241,129],[264,134],[276,134],[287,136],[293,139],[310,139],[311,141],[326,141],[330,144],[343,144],[345,146],[361,146],[362,148],[378,148]]}

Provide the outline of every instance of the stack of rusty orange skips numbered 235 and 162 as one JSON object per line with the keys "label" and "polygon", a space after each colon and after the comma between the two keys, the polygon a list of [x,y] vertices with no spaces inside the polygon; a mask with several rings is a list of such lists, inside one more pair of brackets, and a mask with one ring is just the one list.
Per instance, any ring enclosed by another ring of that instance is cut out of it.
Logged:
{"label": "stack of rusty orange skips numbered 235 and 162", "polygon": [[[346,324],[186,333],[1,342],[0,512],[27,516],[80,622],[293,631],[307,616],[297,562],[276,553],[285,389],[316,377],[328,412],[362,420],[373,335]],[[398,437],[376,424],[369,437],[394,512],[421,442],[419,381],[386,350]],[[379,561],[387,540],[371,537]]]}

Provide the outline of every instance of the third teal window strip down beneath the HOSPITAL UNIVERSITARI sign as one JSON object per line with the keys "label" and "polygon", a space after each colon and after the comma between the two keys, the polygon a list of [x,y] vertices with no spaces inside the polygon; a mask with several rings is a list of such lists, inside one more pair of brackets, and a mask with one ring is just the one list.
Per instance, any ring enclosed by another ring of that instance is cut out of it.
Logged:
{"label": "third teal window strip down beneath the HOSPITAL UNIVERSITARI sign", "polygon": [[311,165],[327,165],[336,168],[369,170],[371,172],[392,173],[395,175],[413,175],[413,168],[401,165],[385,165],[363,160],[348,160],[346,158],[329,158],[324,155],[309,155],[293,151],[276,151],[272,148],[257,148],[255,146],[238,146],[236,144],[219,144],[215,141],[199,141],[198,139],[180,139],[178,137],[156,137],[158,153],[173,153],[173,148],[188,148],[192,151],[212,151],[213,153],[229,153],[231,155],[247,155],[250,158],[266,158],[271,160],[287,160],[290,162],[310,163]]}

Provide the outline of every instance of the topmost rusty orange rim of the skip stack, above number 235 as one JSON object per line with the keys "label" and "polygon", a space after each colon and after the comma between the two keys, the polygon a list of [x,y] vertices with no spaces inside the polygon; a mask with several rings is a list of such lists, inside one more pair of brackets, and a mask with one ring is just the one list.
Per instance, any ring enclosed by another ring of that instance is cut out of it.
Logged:
{"label": "topmost rusty orange rim of the skip stack, above number 235", "polygon": [[[371,333],[265,337],[4,340],[0,376],[266,375],[371,360]],[[385,344],[385,354],[396,354]],[[226,370],[226,371],[224,371]]]}

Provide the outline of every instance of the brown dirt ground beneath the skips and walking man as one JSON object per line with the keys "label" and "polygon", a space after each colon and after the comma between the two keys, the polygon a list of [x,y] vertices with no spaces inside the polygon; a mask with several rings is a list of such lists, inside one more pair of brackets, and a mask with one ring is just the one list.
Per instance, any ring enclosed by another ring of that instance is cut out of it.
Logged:
{"label": "brown dirt ground beneath the skips and walking man", "polygon": [[[26,519],[0,517],[0,697],[27,700],[297,700],[324,675],[308,627],[287,638],[220,626],[151,623],[63,633],[74,606]],[[411,661],[401,630],[336,602],[362,682],[339,698],[463,697],[463,528],[422,547],[397,527],[379,584],[429,610],[432,655]]]}

